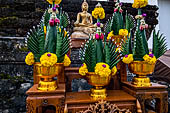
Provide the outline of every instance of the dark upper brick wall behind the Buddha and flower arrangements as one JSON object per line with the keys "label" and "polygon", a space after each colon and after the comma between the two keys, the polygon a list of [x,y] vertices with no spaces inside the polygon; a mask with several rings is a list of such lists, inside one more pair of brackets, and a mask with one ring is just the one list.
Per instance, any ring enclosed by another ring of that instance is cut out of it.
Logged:
{"label": "dark upper brick wall behind the Buddha and flower arrangements", "polygon": [[[81,11],[81,4],[83,0],[63,0],[61,6],[63,10],[68,12],[71,26],[76,20],[77,13]],[[97,1],[88,1],[89,12],[91,13],[94,9]],[[111,17],[114,9],[114,2],[100,2],[105,9],[106,18],[103,23]],[[49,6],[46,0],[0,0],[0,36],[26,36],[27,31],[36,26],[44,10]],[[124,3],[123,7],[124,14],[127,10],[130,14],[136,15],[136,9],[131,7],[130,3]],[[154,25],[158,23],[157,20],[157,6],[147,6],[143,12],[148,14],[146,22],[151,25],[153,29]]]}

